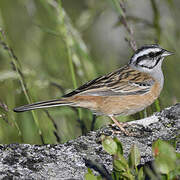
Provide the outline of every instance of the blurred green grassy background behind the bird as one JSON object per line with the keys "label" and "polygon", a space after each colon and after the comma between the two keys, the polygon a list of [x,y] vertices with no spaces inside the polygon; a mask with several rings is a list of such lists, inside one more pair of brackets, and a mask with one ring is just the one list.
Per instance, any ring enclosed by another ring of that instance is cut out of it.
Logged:
{"label": "blurred green grassy background behind the bird", "polygon": [[[63,143],[110,122],[70,107],[19,114],[12,109],[59,98],[128,62],[133,51],[114,6],[118,1],[0,1],[0,143]],[[138,47],[158,43],[175,52],[163,64],[165,85],[159,99],[161,109],[175,104],[180,100],[180,1],[124,2]],[[147,113],[156,110],[152,105]]]}

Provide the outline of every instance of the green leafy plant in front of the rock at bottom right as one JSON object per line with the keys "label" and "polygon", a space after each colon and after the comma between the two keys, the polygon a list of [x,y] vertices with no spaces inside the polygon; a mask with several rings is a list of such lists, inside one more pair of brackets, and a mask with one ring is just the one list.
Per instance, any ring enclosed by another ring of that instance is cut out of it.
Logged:
{"label": "green leafy plant in front of the rock at bottom right", "polygon": [[[107,174],[104,167],[98,168],[94,165],[94,169],[98,170],[100,176],[95,176],[91,169],[85,175],[86,180],[101,180],[103,177],[108,180],[144,180],[163,179],[174,180],[180,176],[180,154],[175,152],[175,148],[162,140],[157,140],[153,144],[154,162],[152,167],[140,166],[140,152],[136,145],[131,148],[128,160],[123,156],[122,144],[118,139],[110,137],[102,137],[102,145],[106,152],[113,156],[113,172]],[[96,168],[95,168],[96,167]]]}

